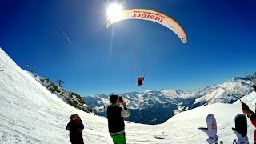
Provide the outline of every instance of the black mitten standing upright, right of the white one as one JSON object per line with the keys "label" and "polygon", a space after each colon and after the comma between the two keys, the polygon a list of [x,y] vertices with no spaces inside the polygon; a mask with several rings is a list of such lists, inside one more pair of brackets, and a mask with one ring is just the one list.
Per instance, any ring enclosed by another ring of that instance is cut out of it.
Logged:
{"label": "black mitten standing upright, right of the white one", "polygon": [[[247,105],[246,105],[247,106]],[[247,121],[246,116],[244,114],[238,114],[234,118],[235,128],[233,127],[232,130],[234,134],[238,137],[237,143],[244,143],[249,144],[248,137],[247,137]]]}

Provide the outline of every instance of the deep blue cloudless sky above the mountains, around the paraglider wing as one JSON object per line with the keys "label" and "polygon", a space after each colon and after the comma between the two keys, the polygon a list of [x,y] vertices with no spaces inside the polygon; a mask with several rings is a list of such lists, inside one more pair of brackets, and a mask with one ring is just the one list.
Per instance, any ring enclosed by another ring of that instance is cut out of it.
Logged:
{"label": "deep blue cloudless sky above the mountains, around the paraglider wing", "polygon": [[[22,69],[63,79],[64,88],[83,96],[196,90],[256,70],[254,0],[123,1],[123,9],[174,18],[186,31],[186,44],[154,22],[126,20],[106,29],[111,2],[0,1],[0,47]],[[143,87],[137,74],[146,74]]]}

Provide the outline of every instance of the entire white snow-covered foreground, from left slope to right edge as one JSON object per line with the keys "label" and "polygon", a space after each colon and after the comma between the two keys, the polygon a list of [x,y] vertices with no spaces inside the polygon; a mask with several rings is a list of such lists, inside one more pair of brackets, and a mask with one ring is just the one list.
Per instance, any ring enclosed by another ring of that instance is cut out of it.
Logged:
{"label": "entire white snow-covered foreground, from left slope to right edge", "polygon": [[[256,94],[242,98],[254,110]],[[129,106],[129,104],[128,104]],[[85,143],[111,143],[104,117],[75,109],[51,94],[25,70],[18,67],[0,49],[0,143],[31,144],[69,143],[65,130],[70,114],[77,113],[85,124]],[[206,126],[207,114],[214,114],[218,122],[218,138],[232,143],[235,135],[234,116],[242,113],[240,103],[215,103],[179,113],[159,125],[143,125],[126,122],[127,144],[177,144],[206,143],[206,134],[198,130]],[[248,122],[250,142],[253,142],[254,127]]]}

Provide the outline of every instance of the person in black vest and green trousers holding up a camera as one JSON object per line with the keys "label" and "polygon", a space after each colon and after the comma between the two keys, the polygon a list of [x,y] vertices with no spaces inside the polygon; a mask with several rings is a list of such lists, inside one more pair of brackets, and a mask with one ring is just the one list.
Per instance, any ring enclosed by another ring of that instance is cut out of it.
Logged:
{"label": "person in black vest and green trousers holding up a camera", "polygon": [[[130,112],[122,97],[118,97],[118,95],[111,95],[110,102],[111,104],[106,110],[110,136],[114,144],[126,144],[124,118],[129,117]],[[121,103],[123,108],[120,107]]]}

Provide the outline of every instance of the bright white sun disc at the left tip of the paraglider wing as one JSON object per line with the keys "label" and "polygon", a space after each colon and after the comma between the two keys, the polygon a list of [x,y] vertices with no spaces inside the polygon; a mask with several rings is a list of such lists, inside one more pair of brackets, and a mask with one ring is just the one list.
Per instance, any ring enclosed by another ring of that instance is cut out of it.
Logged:
{"label": "bright white sun disc at the left tip of the paraglider wing", "polygon": [[107,10],[107,17],[110,19],[118,19],[121,17],[122,6],[118,4],[111,4]]}

